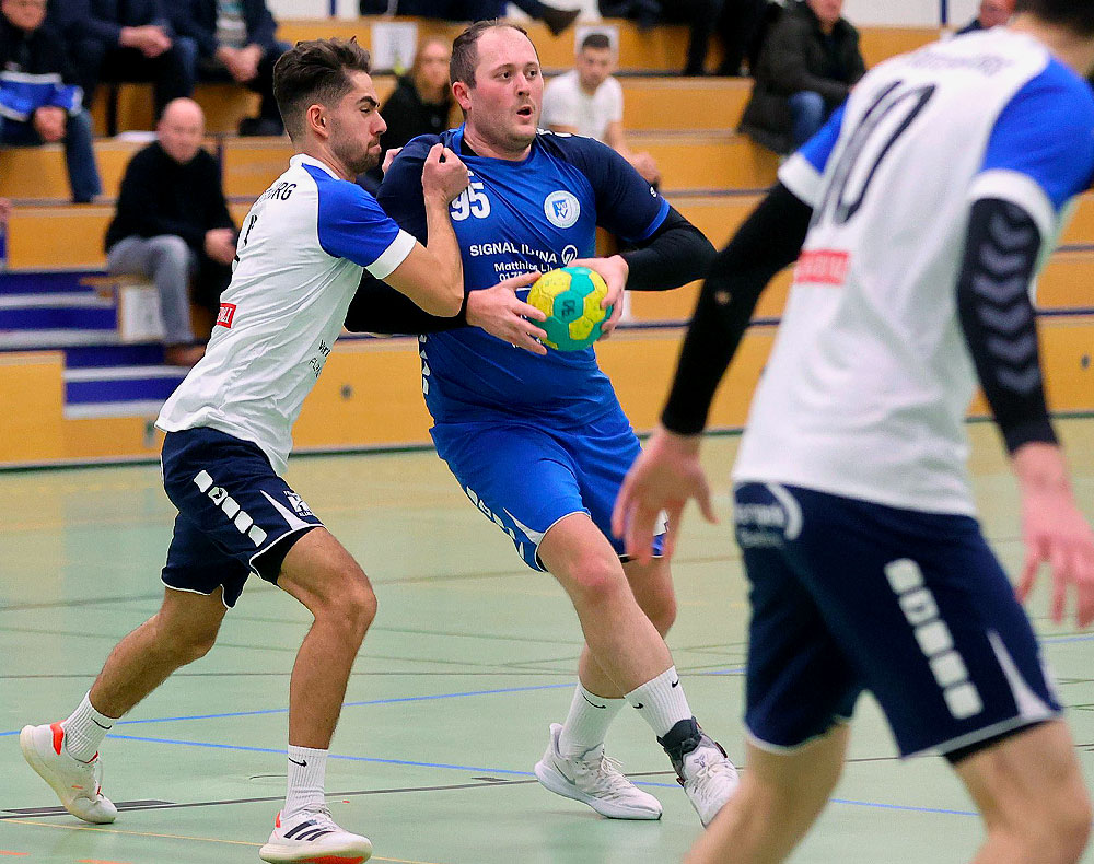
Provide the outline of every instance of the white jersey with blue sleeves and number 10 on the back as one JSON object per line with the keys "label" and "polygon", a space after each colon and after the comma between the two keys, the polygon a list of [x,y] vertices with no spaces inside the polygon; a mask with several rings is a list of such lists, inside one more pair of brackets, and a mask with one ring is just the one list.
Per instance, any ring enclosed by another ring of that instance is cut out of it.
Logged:
{"label": "white jersey with blue sleeves and number 10 on the back", "polygon": [[974,514],[969,210],[1013,202],[1048,249],[1092,175],[1094,97],[1032,37],[996,28],[870,72],[780,170],[813,223],[734,479]]}

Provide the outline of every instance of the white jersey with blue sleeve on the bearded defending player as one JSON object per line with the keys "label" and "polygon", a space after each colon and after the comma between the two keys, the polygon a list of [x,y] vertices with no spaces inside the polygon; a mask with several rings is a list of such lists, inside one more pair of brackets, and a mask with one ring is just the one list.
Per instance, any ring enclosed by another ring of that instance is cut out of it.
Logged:
{"label": "white jersey with blue sleeve on the bearded defending player", "polygon": [[257,444],[283,471],[292,425],[363,270],[384,279],[414,246],[361,187],[293,156],[251,208],[206,354],[156,425],[220,430]]}

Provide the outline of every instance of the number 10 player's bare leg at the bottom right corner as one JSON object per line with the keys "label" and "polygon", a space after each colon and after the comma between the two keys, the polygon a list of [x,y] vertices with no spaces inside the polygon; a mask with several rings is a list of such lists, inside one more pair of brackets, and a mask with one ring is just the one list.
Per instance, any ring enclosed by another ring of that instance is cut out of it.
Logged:
{"label": "number 10 player's bare leg at the bottom right corner", "polygon": [[1061,721],[1006,738],[956,771],[988,829],[975,864],[1074,864],[1082,857],[1090,795]]}

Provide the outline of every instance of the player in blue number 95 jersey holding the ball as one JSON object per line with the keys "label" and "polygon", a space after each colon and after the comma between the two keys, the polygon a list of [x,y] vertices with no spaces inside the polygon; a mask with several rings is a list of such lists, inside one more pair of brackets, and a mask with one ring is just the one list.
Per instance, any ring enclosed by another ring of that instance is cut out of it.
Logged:
{"label": "player in blue number 95 jersey holding the ball", "polygon": [[[537,130],[544,84],[524,31],[473,25],[453,45],[451,72],[465,124],[407,144],[379,200],[426,240],[427,153],[440,142],[467,165],[470,185],[450,208],[463,253],[464,326],[418,314],[369,280],[348,325],[423,334],[422,388],[438,453],[528,567],[550,572],[573,602],[586,643],[580,682],[566,722],[550,728],[536,777],[609,818],[659,818],[660,802],[604,756],[607,727],[629,703],[653,728],[706,824],[733,794],[737,774],[696,723],[664,642],[676,611],[667,562],[621,559],[608,534],[638,440],[593,349],[561,353],[536,341],[545,336],[535,326],[543,315],[516,291],[538,272],[591,267],[608,284],[610,331],[625,288],[691,281],[713,249],[613,150]],[[597,225],[637,248],[595,258]]]}

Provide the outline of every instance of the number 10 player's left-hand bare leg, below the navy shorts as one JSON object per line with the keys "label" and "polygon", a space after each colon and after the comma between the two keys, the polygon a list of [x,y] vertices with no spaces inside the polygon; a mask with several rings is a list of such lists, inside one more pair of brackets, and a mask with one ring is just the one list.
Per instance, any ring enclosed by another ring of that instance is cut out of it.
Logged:
{"label": "number 10 player's left-hand bare leg, below the navy shorts", "polygon": [[816,821],[843,769],[848,728],[790,754],[749,744],[741,789],[691,847],[685,864],[777,864]]}

